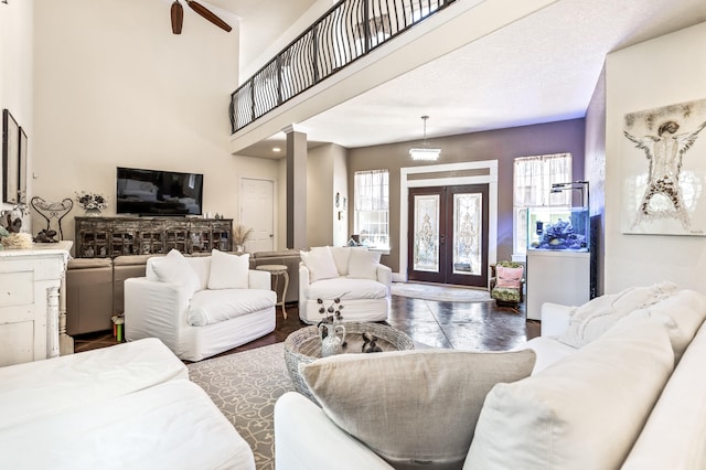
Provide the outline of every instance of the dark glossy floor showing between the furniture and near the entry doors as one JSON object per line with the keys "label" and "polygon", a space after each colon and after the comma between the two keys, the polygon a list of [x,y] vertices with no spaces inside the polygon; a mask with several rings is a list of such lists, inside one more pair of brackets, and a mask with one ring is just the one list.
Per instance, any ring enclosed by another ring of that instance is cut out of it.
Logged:
{"label": "dark glossy floor showing between the furniture and near the entry doors", "polygon": [[[288,305],[285,320],[278,308],[274,332],[221,355],[285,341],[289,333],[307,325],[298,313],[296,303]],[[393,296],[387,323],[417,343],[466,351],[506,351],[539,335],[539,322],[525,320],[523,305],[515,310],[495,302],[439,302]],[[76,352],[116,344],[110,331],[75,337],[74,341]]]}

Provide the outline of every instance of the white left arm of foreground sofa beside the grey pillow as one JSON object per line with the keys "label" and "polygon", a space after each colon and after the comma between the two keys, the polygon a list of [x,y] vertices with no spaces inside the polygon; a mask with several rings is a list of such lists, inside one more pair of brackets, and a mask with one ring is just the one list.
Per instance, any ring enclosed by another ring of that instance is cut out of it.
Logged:
{"label": "white left arm of foreground sofa beside the grey pillow", "polygon": [[[331,460],[333,449],[335,461]],[[275,461],[277,470],[393,469],[296,392],[286,393],[275,405]]]}

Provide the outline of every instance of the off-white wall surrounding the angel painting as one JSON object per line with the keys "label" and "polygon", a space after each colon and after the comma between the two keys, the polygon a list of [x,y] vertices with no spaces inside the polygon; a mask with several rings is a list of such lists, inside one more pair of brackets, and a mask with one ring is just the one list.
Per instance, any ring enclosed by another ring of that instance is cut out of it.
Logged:
{"label": "off-white wall surrounding the angel painting", "polygon": [[[606,116],[606,292],[670,280],[706,291],[706,237],[623,235],[620,159],[624,115],[706,98],[706,23],[609,54]],[[706,133],[691,152],[706,164]],[[698,154],[696,154],[698,152]],[[703,168],[703,167],[702,167]],[[700,210],[706,210],[702,207]]]}

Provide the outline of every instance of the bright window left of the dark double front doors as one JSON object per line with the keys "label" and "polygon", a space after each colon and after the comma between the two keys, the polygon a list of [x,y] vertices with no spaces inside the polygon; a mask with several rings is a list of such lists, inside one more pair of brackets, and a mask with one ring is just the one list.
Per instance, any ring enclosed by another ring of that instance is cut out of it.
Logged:
{"label": "bright window left of the dark double front doors", "polygon": [[355,233],[370,248],[389,248],[389,171],[355,172]]}

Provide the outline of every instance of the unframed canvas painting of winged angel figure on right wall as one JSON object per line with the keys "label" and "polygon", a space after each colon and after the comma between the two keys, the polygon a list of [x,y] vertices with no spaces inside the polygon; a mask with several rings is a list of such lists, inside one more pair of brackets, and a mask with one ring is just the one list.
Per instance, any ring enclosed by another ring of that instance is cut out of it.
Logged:
{"label": "unframed canvas painting of winged angel figure on right wall", "polygon": [[706,99],[625,115],[624,234],[706,235]]}

